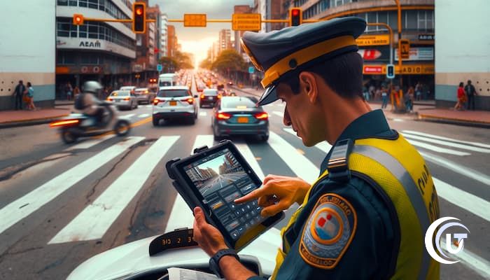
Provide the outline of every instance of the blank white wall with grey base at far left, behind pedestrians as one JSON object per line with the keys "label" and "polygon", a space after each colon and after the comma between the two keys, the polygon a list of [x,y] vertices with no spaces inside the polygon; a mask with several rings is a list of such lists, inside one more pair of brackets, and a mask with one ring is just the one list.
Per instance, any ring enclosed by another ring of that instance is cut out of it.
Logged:
{"label": "blank white wall with grey base at far left, behind pedestrians", "polygon": [[0,110],[15,108],[12,94],[19,80],[31,82],[36,106],[54,106],[55,5],[31,0],[26,8],[25,1],[1,1],[0,10],[5,22],[0,28]]}

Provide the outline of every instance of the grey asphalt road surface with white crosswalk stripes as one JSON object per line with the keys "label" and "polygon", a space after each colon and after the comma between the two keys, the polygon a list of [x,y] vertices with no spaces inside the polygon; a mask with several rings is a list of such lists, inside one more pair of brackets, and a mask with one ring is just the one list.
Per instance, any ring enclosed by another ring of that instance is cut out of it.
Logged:
{"label": "grey asphalt road surface with white crosswalk stripes", "polygon": [[[313,181],[329,146],[304,147],[283,127],[283,109],[279,102],[266,106],[267,143],[232,140],[260,177]],[[136,125],[130,137],[66,146],[48,125],[0,130],[0,279],[65,279],[92,255],[192,226],[165,162],[213,144],[211,109],[200,109],[195,125],[160,127],[151,124],[151,106],[120,113]],[[403,118],[390,124],[423,152],[437,179],[441,216],[460,218],[470,230],[466,254],[442,265],[441,279],[488,279],[490,130]]]}

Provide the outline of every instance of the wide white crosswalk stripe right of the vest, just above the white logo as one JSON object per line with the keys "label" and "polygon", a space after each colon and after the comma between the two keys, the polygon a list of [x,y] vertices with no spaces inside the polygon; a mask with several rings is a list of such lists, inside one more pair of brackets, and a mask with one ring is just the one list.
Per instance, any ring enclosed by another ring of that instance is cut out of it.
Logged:
{"label": "wide white crosswalk stripe right of the vest, just above the white logo", "polygon": [[439,197],[442,197],[451,204],[454,204],[461,209],[470,211],[472,214],[475,214],[485,221],[490,222],[490,202],[483,200],[476,195],[472,195],[471,193],[467,193],[464,190],[451,186],[437,178],[432,177],[432,179]]}

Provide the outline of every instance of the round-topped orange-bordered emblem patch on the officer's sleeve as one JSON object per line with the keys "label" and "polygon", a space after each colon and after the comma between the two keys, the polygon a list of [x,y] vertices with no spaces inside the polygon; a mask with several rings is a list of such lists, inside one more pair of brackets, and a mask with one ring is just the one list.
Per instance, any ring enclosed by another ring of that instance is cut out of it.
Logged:
{"label": "round-topped orange-bordered emblem patch on the officer's sleeve", "polygon": [[339,195],[322,195],[309,214],[300,241],[300,255],[309,265],[322,269],[337,266],[356,233],[357,215]]}

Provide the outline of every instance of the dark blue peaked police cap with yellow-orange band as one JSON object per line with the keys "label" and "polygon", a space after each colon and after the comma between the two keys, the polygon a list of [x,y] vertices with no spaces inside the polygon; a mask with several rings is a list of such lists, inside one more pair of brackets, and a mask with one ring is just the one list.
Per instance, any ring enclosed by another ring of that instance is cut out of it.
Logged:
{"label": "dark blue peaked police cap with yellow-orange band", "polygon": [[276,85],[291,71],[346,52],[356,52],[356,38],[364,32],[362,18],[345,17],[287,27],[267,33],[245,32],[241,46],[259,71],[265,92],[258,105],[277,100]]}

